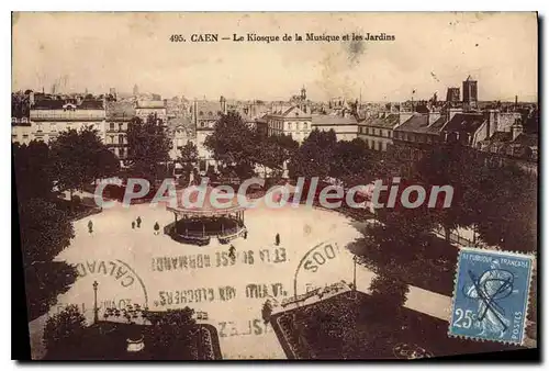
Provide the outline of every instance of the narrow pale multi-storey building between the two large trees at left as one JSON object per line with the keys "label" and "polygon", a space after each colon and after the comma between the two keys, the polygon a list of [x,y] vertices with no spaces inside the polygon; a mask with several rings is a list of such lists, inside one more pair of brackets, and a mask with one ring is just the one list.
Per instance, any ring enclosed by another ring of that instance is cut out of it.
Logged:
{"label": "narrow pale multi-storey building between the two large trees at left", "polygon": [[126,164],[128,156],[127,128],[135,116],[135,105],[132,102],[109,102],[107,104],[104,143],[121,160],[122,166]]}

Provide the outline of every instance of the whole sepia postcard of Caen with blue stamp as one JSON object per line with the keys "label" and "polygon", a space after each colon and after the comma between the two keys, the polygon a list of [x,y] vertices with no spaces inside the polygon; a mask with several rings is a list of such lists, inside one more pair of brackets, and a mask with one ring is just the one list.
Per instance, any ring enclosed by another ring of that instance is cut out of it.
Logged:
{"label": "whole sepia postcard of Caen with blue stamp", "polygon": [[537,81],[535,12],[14,12],[32,358],[537,349]]}

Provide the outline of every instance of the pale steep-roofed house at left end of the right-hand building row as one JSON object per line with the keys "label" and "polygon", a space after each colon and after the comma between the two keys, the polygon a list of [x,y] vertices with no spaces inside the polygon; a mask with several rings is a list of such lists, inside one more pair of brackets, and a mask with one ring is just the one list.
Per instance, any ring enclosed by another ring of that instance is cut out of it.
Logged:
{"label": "pale steep-roofed house at left end of the right-hand building row", "polygon": [[380,112],[358,123],[358,137],[370,149],[386,150],[393,144],[393,131],[399,124],[397,113]]}

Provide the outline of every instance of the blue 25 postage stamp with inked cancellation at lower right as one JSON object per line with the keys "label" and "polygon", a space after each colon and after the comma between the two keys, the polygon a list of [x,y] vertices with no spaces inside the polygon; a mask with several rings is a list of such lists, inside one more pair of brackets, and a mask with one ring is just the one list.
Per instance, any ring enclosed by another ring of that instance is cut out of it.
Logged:
{"label": "blue 25 postage stamp with inked cancellation at lower right", "polygon": [[522,345],[534,256],[463,248],[448,334]]}

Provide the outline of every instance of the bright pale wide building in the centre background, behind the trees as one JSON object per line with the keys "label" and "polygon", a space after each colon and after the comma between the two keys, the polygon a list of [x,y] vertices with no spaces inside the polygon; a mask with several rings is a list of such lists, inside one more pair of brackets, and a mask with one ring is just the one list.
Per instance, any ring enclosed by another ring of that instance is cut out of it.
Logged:
{"label": "bright pale wide building in the centre background, behind the trees", "polygon": [[312,115],[296,105],[273,108],[266,120],[269,136],[290,135],[298,143],[303,143],[313,128]]}

